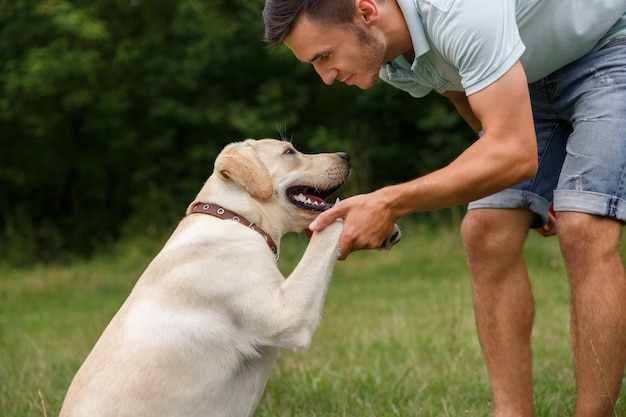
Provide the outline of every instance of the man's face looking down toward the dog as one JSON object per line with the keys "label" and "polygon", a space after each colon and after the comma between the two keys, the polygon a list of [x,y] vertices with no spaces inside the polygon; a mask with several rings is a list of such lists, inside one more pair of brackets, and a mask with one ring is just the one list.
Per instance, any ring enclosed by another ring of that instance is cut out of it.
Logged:
{"label": "man's face looking down toward the dog", "polygon": [[337,80],[367,89],[376,83],[385,56],[384,43],[367,30],[324,27],[301,16],[284,43],[296,58],[312,64],[325,84]]}

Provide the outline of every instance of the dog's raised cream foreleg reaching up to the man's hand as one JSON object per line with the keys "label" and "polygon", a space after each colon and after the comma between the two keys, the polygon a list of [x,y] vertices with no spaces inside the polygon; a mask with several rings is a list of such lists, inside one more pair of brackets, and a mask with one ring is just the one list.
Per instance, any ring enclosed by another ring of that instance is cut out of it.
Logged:
{"label": "dog's raised cream foreleg reaching up to the man's hand", "polygon": [[343,223],[336,221],[315,232],[302,259],[281,285],[283,308],[276,335],[283,347],[301,351],[309,347],[319,324],[326,290],[337,261],[337,247]]}

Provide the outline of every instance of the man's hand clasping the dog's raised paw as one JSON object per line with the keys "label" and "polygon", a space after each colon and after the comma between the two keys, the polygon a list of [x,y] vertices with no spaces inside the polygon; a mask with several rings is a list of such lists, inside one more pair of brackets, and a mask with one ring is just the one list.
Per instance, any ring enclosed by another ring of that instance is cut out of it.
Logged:
{"label": "man's hand clasping the dog's raised paw", "polygon": [[309,229],[314,232],[322,230],[337,219],[343,219],[343,232],[339,239],[340,260],[357,250],[380,248],[392,234],[396,220],[386,202],[373,192],[341,200],[321,213]]}

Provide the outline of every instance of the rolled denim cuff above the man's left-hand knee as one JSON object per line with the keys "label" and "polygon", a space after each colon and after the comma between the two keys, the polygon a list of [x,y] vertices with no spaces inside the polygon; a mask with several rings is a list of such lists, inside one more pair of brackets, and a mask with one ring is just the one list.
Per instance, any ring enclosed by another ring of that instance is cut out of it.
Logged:
{"label": "rolled denim cuff above the man's left-hand knee", "polygon": [[481,208],[528,209],[537,215],[530,225],[531,229],[535,229],[548,223],[550,202],[540,195],[529,191],[509,189],[492,194],[489,197],[481,198],[480,200],[472,201],[467,207],[468,210]]}

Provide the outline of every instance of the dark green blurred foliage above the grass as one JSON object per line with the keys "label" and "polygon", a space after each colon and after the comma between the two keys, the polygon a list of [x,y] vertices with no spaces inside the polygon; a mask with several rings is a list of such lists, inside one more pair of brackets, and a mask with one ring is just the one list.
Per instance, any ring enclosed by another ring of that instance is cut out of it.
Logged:
{"label": "dark green blurred foliage above the grass", "polygon": [[344,193],[448,163],[441,97],[324,85],[262,41],[263,0],[0,0],[0,259],[85,256],[183,214],[217,152],[284,137],[347,151]]}

